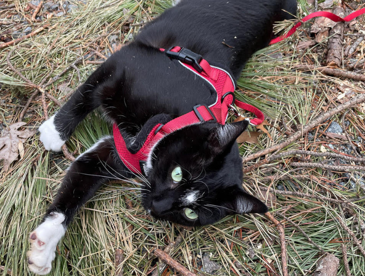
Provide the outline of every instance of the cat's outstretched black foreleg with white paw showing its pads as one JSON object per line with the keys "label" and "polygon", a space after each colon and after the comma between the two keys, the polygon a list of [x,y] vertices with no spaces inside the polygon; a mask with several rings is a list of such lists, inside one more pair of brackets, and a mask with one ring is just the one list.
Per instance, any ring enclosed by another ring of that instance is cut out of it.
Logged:
{"label": "cat's outstretched black foreleg with white paw showing its pads", "polygon": [[113,136],[102,138],[79,155],[68,168],[43,222],[29,234],[29,270],[40,275],[49,273],[56,246],[79,208],[92,198],[103,183],[129,177],[132,174],[120,160]]}

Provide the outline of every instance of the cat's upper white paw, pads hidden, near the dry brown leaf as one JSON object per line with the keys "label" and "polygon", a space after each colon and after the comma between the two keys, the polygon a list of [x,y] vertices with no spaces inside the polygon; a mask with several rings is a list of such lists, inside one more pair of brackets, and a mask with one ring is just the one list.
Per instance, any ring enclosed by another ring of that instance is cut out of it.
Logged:
{"label": "cat's upper white paw, pads hidden, near the dry brown leaf", "polygon": [[42,141],[45,149],[53,151],[61,151],[61,146],[66,142],[61,139],[60,133],[56,130],[53,123],[55,115],[50,117],[46,122],[44,122],[40,127],[41,132],[40,140]]}

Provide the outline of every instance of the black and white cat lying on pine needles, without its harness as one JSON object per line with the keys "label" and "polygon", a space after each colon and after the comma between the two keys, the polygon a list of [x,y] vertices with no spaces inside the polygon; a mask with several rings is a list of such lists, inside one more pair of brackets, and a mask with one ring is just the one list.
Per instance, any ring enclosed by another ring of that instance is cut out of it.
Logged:
{"label": "black and white cat lying on pine needles, without its harness", "polygon": [[[211,106],[216,91],[201,77],[161,51],[185,47],[237,80],[248,58],[266,47],[273,23],[291,19],[296,0],[182,0],[143,27],[133,42],[108,58],[66,104],[39,128],[47,150],[60,151],[75,128],[100,107],[129,150],[138,149],[157,123],[165,124]],[[188,226],[214,223],[227,215],[265,213],[265,204],[242,186],[236,138],[247,121],[214,121],[178,129],[151,149],[143,180],[142,205],[152,216]],[[128,165],[128,164],[127,164]],[[109,179],[133,178],[113,136],[100,139],[66,172],[42,224],[30,233],[29,269],[47,274],[56,245],[75,213]]]}

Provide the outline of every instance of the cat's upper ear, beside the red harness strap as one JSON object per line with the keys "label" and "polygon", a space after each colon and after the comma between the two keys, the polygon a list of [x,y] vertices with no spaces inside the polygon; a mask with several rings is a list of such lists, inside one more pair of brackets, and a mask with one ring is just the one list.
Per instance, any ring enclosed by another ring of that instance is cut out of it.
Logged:
{"label": "cat's upper ear, beside the red harness strap", "polygon": [[207,139],[209,147],[217,153],[222,152],[226,146],[236,141],[238,136],[240,136],[247,126],[248,121],[243,120],[240,122],[212,128]]}

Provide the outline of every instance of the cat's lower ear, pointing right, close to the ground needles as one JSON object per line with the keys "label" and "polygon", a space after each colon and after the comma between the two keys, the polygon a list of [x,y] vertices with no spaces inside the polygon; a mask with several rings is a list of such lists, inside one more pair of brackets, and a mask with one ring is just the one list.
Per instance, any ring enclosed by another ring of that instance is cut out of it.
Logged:
{"label": "cat's lower ear, pointing right, close to the ground needles", "polygon": [[[246,193],[241,188],[229,188],[231,199],[224,205],[232,211],[232,214],[266,213],[267,206],[259,199]],[[234,191],[232,191],[234,190]]]}

